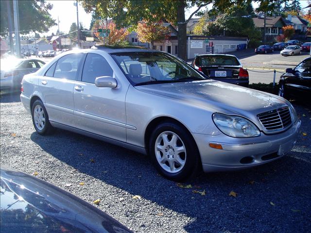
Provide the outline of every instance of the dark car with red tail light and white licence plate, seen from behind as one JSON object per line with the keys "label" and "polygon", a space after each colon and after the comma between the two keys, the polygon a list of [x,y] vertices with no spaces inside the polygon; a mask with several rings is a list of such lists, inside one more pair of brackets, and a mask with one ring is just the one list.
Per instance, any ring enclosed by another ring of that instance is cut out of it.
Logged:
{"label": "dark car with red tail light and white licence plate, seen from behind", "polygon": [[248,71],[234,55],[202,54],[194,58],[192,67],[211,79],[248,87]]}

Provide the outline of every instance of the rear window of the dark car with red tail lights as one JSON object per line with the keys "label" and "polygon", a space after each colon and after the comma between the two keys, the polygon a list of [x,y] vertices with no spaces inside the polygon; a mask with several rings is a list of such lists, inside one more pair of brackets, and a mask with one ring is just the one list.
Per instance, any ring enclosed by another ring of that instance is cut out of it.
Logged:
{"label": "rear window of the dark car with red tail lights", "polygon": [[225,55],[212,55],[199,57],[198,66],[240,66],[236,57]]}

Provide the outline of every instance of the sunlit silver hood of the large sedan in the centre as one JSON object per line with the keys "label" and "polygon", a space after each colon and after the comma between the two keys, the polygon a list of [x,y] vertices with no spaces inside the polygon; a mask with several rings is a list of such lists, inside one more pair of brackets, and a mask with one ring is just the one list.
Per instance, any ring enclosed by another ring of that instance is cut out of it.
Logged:
{"label": "sunlit silver hood of the large sedan in the centre", "polygon": [[225,114],[249,116],[287,105],[286,100],[276,95],[215,80],[149,84],[136,88]]}

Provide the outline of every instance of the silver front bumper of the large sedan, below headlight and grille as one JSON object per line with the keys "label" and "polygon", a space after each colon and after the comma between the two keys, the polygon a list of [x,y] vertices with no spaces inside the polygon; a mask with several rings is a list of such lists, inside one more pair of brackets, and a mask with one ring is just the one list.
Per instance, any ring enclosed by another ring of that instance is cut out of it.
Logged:
{"label": "silver front bumper of the large sedan, below headlight and grille", "polygon": [[[204,172],[229,171],[259,166],[282,157],[296,142],[301,121],[285,132],[259,137],[233,138],[225,134],[192,133],[197,143]],[[208,144],[221,144],[223,150]]]}

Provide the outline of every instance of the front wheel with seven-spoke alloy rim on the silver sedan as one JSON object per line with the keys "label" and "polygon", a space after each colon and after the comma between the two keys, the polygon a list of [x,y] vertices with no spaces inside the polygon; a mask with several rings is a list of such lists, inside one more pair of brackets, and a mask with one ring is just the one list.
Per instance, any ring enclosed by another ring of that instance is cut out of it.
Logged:
{"label": "front wheel with seven-spoke alloy rim on the silver sedan", "polygon": [[149,154],[156,170],[173,181],[190,178],[200,164],[200,155],[192,135],[171,121],[155,128],[149,140]]}

